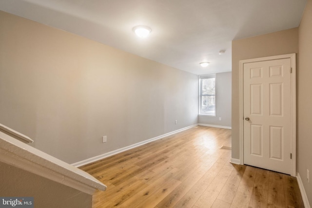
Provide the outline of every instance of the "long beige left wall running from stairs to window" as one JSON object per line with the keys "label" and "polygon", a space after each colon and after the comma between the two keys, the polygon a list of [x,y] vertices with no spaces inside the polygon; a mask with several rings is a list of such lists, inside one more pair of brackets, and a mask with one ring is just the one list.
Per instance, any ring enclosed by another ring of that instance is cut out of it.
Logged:
{"label": "long beige left wall running from stairs to window", "polygon": [[74,163],[197,123],[194,74],[4,12],[0,28],[0,123],[41,151]]}

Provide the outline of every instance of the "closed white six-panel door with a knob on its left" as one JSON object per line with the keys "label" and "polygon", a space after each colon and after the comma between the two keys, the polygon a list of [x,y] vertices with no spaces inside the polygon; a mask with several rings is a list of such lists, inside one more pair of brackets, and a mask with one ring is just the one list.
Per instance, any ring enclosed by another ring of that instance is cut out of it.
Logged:
{"label": "closed white six-panel door with a knob on its left", "polygon": [[291,174],[291,58],[244,63],[244,164]]}

